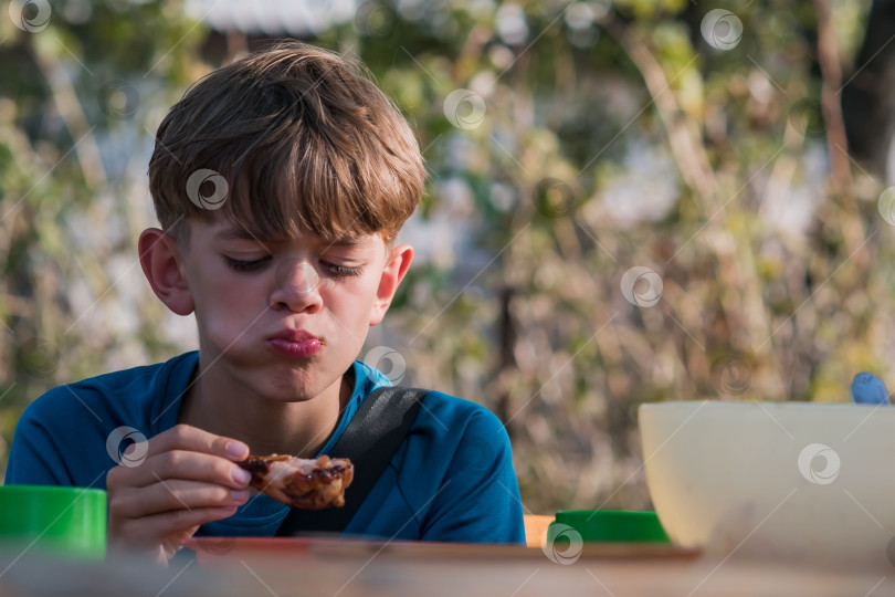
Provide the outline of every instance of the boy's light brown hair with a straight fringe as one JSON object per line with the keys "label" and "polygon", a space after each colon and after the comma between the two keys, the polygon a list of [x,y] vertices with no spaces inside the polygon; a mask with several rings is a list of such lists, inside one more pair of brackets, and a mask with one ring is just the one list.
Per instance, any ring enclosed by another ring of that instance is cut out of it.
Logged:
{"label": "boy's light brown hair with a straight fringe", "polygon": [[[190,192],[188,181],[199,170],[227,181],[227,198],[213,206],[220,209],[190,197],[196,177]],[[424,178],[410,126],[361,69],[298,42],[200,80],[161,122],[149,161],[159,222],[181,245],[189,219],[215,213],[260,238],[309,230],[391,241],[419,203]]]}

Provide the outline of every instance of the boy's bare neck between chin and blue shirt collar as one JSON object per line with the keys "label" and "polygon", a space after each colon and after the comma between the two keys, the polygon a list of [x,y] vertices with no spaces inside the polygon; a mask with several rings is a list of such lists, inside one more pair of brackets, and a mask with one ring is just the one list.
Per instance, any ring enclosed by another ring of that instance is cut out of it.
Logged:
{"label": "boy's bare neck between chin and blue shirt collar", "polygon": [[310,400],[274,402],[234,391],[228,380],[193,374],[177,422],[243,441],[254,454],[313,458],[338,425],[354,391],[354,377],[351,367]]}

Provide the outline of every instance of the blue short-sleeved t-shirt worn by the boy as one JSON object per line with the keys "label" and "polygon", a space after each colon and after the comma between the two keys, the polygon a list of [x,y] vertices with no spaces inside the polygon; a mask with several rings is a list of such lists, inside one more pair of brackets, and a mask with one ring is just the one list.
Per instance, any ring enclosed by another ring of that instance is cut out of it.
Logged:
{"label": "blue short-sleeved t-shirt worn by the boy", "polygon": [[[15,427],[8,484],[106,488],[119,439],[129,427],[151,438],[177,425],[181,397],[199,365],[192,352],[146,367],[54,388],[29,406]],[[355,388],[328,453],[373,389],[379,370],[354,364]],[[138,437],[138,436],[131,436]],[[200,535],[273,536],[288,506],[256,495]],[[389,467],[345,528],[346,535],[450,542],[522,543],[522,501],[509,439],[484,407],[430,392]]]}

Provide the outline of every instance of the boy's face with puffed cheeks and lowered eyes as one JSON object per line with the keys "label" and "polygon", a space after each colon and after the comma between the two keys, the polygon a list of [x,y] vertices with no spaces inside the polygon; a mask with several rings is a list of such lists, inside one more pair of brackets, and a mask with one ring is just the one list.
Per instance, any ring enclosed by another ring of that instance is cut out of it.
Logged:
{"label": "boy's face with puffed cheeks and lowered eyes", "polygon": [[225,221],[189,226],[179,270],[202,365],[272,400],[309,399],[340,380],[412,256],[378,234],[327,242],[312,232],[256,239]]}

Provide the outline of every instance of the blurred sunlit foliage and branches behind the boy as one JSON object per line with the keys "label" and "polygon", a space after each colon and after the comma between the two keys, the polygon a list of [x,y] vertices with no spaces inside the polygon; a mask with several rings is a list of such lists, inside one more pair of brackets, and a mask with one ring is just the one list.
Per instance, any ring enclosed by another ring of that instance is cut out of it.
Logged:
{"label": "blurred sunlit foliage and branches behind the boy", "polygon": [[527,512],[649,507],[640,404],[895,384],[893,1],[0,9],[1,462],[46,389],[197,347],[136,258],[154,134],[282,38],[418,132],[417,259],[361,357],[496,412]]}

